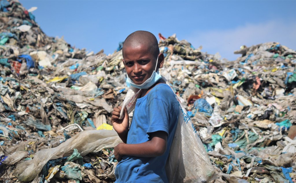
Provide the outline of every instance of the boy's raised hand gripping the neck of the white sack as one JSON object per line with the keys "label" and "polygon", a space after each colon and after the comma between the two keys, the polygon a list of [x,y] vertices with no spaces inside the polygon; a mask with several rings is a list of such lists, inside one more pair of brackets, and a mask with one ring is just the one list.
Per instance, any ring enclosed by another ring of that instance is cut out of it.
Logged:
{"label": "boy's raised hand gripping the neck of the white sack", "polygon": [[119,119],[120,111],[121,111],[121,106],[115,107],[113,109],[112,117],[111,117],[113,128],[115,129],[115,131],[118,133],[119,136],[126,135],[129,127],[128,110],[126,109],[126,107],[124,108],[123,119]]}

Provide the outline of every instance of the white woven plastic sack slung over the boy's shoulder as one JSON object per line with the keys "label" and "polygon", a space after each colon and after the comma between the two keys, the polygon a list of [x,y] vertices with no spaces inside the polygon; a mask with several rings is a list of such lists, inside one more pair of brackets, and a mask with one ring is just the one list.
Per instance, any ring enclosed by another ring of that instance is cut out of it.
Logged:
{"label": "white woven plastic sack slung over the boy's shoulder", "polygon": [[[133,89],[134,88],[130,88],[128,93],[135,94],[133,96],[126,95],[122,105],[126,106],[128,104],[128,113],[134,109],[136,98],[139,97],[139,95],[137,95],[139,89],[136,91],[130,91]],[[212,163],[200,137],[197,135],[197,131],[195,130],[187,111],[181,105],[181,101],[177,96],[176,98],[179,101],[180,114],[169,157],[165,166],[168,180],[170,183],[209,182],[214,174]],[[133,102],[133,104],[131,104],[131,102]],[[124,107],[122,107],[120,112],[121,119],[123,118],[123,108]]]}

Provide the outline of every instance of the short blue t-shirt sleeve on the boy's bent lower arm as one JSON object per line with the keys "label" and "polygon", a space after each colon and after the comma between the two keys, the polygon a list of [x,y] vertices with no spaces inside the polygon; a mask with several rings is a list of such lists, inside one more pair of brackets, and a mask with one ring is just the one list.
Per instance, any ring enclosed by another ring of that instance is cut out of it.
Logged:
{"label": "short blue t-shirt sleeve on the boy's bent lower arm", "polygon": [[157,97],[148,97],[146,109],[149,121],[147,134],[149,136],[150,133],[156,131],[164,131],[169,135],[170,109],[165,99],[159,95]]}

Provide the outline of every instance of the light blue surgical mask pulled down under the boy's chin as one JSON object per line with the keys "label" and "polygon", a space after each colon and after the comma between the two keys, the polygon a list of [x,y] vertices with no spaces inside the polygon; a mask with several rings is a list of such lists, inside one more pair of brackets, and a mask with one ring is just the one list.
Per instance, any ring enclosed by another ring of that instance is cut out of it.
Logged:
{"label": "light blue surgical mask pulled down under the boy's chin", "polygon": [[149,77],[141,85],[136,85],[134,82],[132,82],[132,80],[128,77],[128,74],[126,73],[126,84],[128,85],[128,87],[133,86],[133,87],[139,88],[139,89],[148,89],[152,85],[154,85],[161,78],[161,75],[159,74],[159,71],[155,72],[156,68],[157,68],[157,63],[158,63],[158,56],[157,56],[157,60],[156,60],[156,67],[155,67],[151,77]]}

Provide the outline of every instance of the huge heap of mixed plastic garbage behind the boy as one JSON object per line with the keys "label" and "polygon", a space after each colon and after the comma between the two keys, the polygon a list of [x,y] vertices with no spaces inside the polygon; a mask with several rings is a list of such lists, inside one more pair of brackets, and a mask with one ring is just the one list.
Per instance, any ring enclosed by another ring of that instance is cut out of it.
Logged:
{"label": "huge heap of mixed plastic garbage behind the boy", "polygon": [[[34,9],[1,0],[0,182],[114,182],[111,112],[128,90],[122,43],[110,55],[75,48],[47,36]],[[296,182],[295,50],[242,46],[227,61],[161,34],[159,47],[160,74],[218,175],[211,182]]]}

